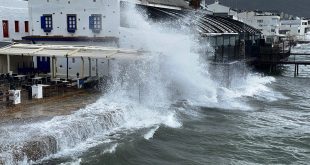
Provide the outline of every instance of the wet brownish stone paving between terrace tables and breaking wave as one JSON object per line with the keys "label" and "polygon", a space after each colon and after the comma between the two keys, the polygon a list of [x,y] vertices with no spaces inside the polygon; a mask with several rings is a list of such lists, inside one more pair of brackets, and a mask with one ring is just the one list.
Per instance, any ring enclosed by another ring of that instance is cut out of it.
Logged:
{"label": "wet brownish stone paving between terrace tables and breaking wave", "polygon": [[[0,125],[38,121],[54,116],[69,115],[91,103],[101,96],[100,92],[76,90],[61,96],[40,100],[27,100],[20,105],[0,107]],[[26,96],[23,96],[23,99]]]}

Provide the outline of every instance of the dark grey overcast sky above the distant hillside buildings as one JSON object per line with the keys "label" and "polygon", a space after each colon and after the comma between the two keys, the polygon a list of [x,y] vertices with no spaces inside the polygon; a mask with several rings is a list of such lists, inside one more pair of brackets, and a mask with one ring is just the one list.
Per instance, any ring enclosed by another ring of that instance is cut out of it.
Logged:
{"label": "dark grey overcast sky above the distant hillside buildings", "polygon": [[[214,2],[214,0],[206,1],[207,4]],[[237,9],[277,10],[310,18],[310,0],[220,0],[220,3]]]}

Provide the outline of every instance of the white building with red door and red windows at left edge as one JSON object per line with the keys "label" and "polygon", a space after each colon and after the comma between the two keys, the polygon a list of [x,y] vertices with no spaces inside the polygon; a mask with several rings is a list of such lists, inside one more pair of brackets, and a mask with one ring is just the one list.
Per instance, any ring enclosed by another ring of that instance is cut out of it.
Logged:
{"label": "white building with red door and red windows at left edge", "polygon": [[0,41],[21,40],[29,35],[27,2],[0,1]]}

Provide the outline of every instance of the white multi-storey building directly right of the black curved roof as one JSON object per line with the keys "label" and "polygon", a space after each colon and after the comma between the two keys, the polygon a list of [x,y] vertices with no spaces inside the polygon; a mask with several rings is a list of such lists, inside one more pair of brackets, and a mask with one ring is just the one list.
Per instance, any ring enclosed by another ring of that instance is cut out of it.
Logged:
{"label": "white multi-storey building directly right of the black curved roof", "polygon": [[279,36],[279,15],[270,12],[246,11],[239,13],[238,18],[244,23],[259,29],[267,42],[273,42],[274,37]]}

